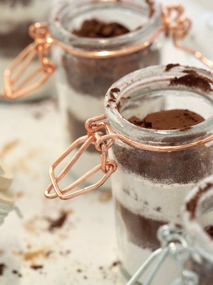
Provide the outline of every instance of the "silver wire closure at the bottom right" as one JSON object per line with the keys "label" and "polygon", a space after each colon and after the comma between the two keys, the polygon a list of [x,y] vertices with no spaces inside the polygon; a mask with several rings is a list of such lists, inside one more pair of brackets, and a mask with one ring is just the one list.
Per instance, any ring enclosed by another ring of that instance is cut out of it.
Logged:
{"label": "silver wire closure at the bottom right", "polygon": [[153,268],[148,275],[143,285],[151,284],[157,270],[166,257],[173,257],[178,266],[181,268],[182,276],[171,285],[197,285],[198,277],[195,272],[186,270],[184,268],[185,262],[191,257],[191,251],[188,244],[180,233],[180,227],[174,227],[172,225],[164,225],[158,229],[158,239],[160,240],[162,247],[154,251],[147,260],[141,265],[141,267],[135,272],[132,278],[127,282],[126,285],[134,285],[143,276],[147,268],[154,262],[158,257],[157,262],[153,265]]}

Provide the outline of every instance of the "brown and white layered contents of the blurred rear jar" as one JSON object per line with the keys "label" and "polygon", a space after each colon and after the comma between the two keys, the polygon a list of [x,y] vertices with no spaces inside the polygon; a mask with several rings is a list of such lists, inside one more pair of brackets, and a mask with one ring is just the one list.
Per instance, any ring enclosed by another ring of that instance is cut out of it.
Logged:
{"label": "brown and white layered contents of the blurred rear jar", "polygon": [[[85,20],[79,29],[72,30],[79,37],[103,39],[123,36],[128,32],[130,29],[127,25],[95,18]],[[89,42],[82,48],[90,50]],[[59,92],[62,94],[61,109],[65,112],[64,120],[68,129],[67,145],[86,134],[84,125],[88,118],[104,113],[104,96],[114,82],[132,71],[159,62],[160,52],[152,44],[132,54],[111,58],[85,58],[64,53],[62,68],[66,84],[59,84]],[[93,166],[100,163],[94,146],[84,152],[84,157],[86,161],[92,161]],[[89,170],[88,164],[84,166],[82,169],[82,164],[76,162],[74,176]],[[105,183],[106,186],[110,187],[110,181]]]}

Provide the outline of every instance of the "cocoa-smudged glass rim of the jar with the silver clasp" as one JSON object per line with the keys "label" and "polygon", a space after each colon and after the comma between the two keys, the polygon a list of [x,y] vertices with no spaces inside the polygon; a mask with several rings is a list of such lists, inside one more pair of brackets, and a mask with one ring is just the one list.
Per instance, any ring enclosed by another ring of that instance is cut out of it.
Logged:
{"label": "cocoa-smudged glass rim of the jar with the silver clasp", "polygon": [[199,222],[204,201],[213,202],[213,175],[199,182],[188,193],[181,209],[183,227],[189,245],[202,257],[213,262],[213,239]]}

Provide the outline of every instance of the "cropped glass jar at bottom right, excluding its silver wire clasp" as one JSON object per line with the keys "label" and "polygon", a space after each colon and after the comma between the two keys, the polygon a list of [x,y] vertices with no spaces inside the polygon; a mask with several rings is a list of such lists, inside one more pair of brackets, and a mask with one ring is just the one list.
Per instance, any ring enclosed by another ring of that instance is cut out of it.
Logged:
{"label": "cropped glass jar at bottom right, excluding its silver wire clasp", "polygon": [[195,272],[199,285],[213,284],[213,176],[198,183],[182,207],[185,236],[192,252],[186,268]]}

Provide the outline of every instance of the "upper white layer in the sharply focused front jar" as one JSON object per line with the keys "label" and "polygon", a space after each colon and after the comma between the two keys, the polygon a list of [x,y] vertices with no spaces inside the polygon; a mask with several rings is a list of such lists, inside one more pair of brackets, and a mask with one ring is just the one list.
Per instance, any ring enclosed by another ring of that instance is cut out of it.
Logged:
{"label": "upper white layer in the sharply focused front jar", "polygon": [[118,166],[112,176],[114,197],[136,215],[179,223],[180,207],[194,184],[160,184]]}

